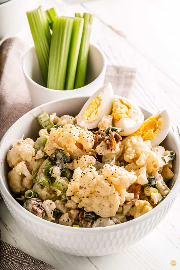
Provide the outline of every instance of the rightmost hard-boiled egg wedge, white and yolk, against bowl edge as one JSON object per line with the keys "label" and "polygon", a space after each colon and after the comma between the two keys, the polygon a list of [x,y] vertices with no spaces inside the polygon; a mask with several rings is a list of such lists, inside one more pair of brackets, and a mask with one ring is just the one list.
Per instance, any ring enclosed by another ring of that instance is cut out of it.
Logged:
{"label": "rightmost hard-boiled egg wedge, white and yolk, against bowl edge", "polygon": [[[155,147],[162,143],[165,137],[168,135],[170,127],[170,118],[166,110],[160,111],[151,117],[147,118],[141,125],[141,127],[131,136],[141,136],[143,140],[150,140],[152,147]],[[122,140],[122,144],[125,144],[128,136]]]}

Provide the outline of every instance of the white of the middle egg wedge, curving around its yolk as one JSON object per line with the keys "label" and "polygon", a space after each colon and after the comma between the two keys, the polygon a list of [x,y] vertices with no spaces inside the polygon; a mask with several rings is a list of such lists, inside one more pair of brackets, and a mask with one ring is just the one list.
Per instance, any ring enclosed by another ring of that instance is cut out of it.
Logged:
{"label": "white of the middle egg wedge, curving around its yolk", "polygon": [[128,136],[135,131],[137,131],[144,121],[144,114],[141,112],[140,107],[138,107],[134,102],[129,99],[120,96],[114,96],[115,98],[121,98],[122,100],[128,101],[132,107],[135,108],[136,114],[133,118],[122,117],[117,123],[113,123],[114,127],[123,129],[123,132],[120,132],[121,136]]}

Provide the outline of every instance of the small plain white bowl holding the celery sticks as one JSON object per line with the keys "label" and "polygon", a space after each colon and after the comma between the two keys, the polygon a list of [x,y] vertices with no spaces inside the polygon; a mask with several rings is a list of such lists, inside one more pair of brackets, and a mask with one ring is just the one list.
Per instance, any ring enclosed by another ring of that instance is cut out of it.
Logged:
{"label": "small plain white bowl holding the celery sticks", "polygon": [[34,47],[26,52],[23,58],[22,69],[33,107],[37,107],[40,104],[60,98],[78,97],[84,95],[91,96],[104,84],[106,59],[104,57],[104,53],[99,48],[90,44],[86,72],[86,86],[74,90],[53,90],[44,87],[43,78]]}

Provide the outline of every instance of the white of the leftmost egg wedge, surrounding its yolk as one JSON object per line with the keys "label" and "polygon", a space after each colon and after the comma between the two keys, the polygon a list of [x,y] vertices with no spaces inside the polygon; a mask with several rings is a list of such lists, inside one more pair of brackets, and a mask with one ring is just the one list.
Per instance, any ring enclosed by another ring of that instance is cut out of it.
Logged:
{"label": "white of the leftmost egg wedge, surrounding its yolk", "polygon": [[[102,99],[102,112],[100,113],[98,119],[92,121],[91,123],[84,122],[82,120],[82,114],[84,110],[88,107],[88,105],[91,103],[93,99],[96,97],[101,96]],[[114,100],[114,93],[111,83],[106,83],[103,85],[100,89],[98,89],[84,104],[82,107],[80,113],[76,116],[77,124],[80,127],[87,127],[87,129],[94,129],[98,126],[99,122],[101,121],[101,118],[104,115],[108,115],[111,113],[112,107],[113,107],[113,100]]]}

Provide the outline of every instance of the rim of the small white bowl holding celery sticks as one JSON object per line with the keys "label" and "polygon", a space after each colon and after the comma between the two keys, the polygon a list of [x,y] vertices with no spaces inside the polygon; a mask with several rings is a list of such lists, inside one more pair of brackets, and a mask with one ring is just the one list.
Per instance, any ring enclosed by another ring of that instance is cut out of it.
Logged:
{"label": "rim of the small white bowl holding celery sticks", "polygon": [[[41,87],[42,89],[44,89],[44,90],[46,90],[46,91],[54,92],[54,93],[58,93],[57,91],[60,91],[60,92],[62,92],[62,91],[68,91],[68,93],[69,93],[69,92],[71,92],[71,91],[73,91],[73,92],[74,92],[74,91],[78,91],[78,90],[80,90],[80,89],[83,89],[83,88],[86,87],[86,86],[90,86],[91,84],[93,84],[94,82],[96,82],[96,80],[98,80],[100,76],[102,76],[102,74],[106,71],[106,67],[107,67],[107,61],[106,61],[106,58],[105,58],[105,55],[104,55],[103,51],[102,51],[99,47],[97,47],[96,45],[94,45],[94,44],[92,44],[92,43],[90,43],[90,46],[96,48],[96,49],[99,51],[99,53],[101,54],[102,59],[103,59],[103,68],[101,69],[101,72],[100,72],[99,75],[96,77],[96,79],[94,79],[92,82],[88,83],[87,85],[84,85],[84,86],[79,87],[79,88],[77,88],[77,89],[71,89],[71,90],[56,90],[56,89],[47,88],[47,87],[45,87],[45,86],[42,86],[42,85],[36,83],[36,82],[28,75],[28,73],[27,73],[27,71],[26,71],[26,68],[25,68],[25,58],[26,58],[27,54],[28,54],[30,51],[34,50],[34,51],[36,52],[35,46],[32,46],[32,47],[25,53],[25,55],[23,56],[23,59],[22,59],[22,70],[23,70],[24,76],[25,76],[26,79],[29,80],[30,83],[32,83],[34,86],[39,86],[39,87]],[[45,103],[44,103],[44,104],[45,104]]]}

